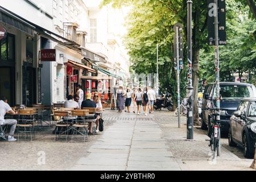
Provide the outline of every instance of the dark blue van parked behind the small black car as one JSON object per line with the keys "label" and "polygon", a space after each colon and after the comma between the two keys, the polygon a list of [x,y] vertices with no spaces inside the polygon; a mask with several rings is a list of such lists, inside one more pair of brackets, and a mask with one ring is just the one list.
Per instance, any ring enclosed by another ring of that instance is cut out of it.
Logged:
{"label": "dark blue van parked behind the small black car", "polygon": [[[221,133],[226,134],[229,130],[229,120],[231,114],[235,110],[243,98],[256,97],[256,88],[252,84],[245,84],[241,82],[220,82],[220,120]],[[213,108],[216,106],[216,84],[211,83],[206,85],[202,100],[203,108]],[[224,110],[227,109],[227,110]],[[206,130],[208,128],[212,110],[202,110],[201,114],[201,128]]]}

